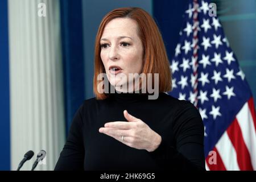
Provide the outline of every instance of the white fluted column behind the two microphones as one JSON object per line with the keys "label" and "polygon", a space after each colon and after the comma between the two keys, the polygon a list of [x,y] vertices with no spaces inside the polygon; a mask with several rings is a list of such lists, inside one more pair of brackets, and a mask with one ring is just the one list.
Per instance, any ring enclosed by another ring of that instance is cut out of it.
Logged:
{"label": "white fluted column behind the two microphones", "polygon": [[[46,17],[38,16],[38,3]],[[24,164],[30,170],[40,150],[52,170],[64,144],[64,96],[58,0],[9,0],[11,169],[23,155],[35,156]]]}

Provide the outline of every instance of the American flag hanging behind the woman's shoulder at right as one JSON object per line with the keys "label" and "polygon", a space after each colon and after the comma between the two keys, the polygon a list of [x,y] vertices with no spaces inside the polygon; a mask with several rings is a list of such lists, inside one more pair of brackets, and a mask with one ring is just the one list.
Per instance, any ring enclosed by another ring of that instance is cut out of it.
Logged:
{"label": "American flag hanging behind the woman's shoulder at right", "polygon": [[171,60],[173,90],[192,102],[204,122],[208,170],[256,170],[253,97],[209,2],[193,0]]}

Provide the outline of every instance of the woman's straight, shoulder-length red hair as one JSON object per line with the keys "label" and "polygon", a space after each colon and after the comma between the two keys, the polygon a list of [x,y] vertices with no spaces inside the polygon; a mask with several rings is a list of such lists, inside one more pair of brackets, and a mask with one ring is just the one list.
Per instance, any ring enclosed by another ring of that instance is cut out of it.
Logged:
{"label": "woman's straight, shoulder-length red hair", "polygon": [[[97,100],[104,100],[109,96],[108,93],[99,93],[97,80],[100,73],[106,73],[101,60],[100,39],[106,24],[115,18],[130,18],[137,22],[138,35],[142,41],[144,55],[142,73],[159,74],[159,92],[168,92],[172,89],[170,63],[167,57],[166,48],[163,43],[162,35],[156,25],[154,19],[141,8],[138,7],[123,7],[114,9],[104,16],[98,28],[95,53],[94,53],[94,78],[93,91]],[[154,77],[152,78],[154,82]],[[154,85],[154,84],[153,84]]]}

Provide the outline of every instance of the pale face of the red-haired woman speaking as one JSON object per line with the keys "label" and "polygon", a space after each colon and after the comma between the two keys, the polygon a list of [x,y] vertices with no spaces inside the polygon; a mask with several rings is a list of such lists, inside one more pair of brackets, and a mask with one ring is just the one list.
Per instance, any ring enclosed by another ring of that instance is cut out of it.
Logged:
{"label": "pale face of the red-haired woman speaking", "polygon": [[111,20],[104,28],[100,44],[108,80],[122,92],[124,90],[119,86],[127,83],[129,73],[142,73],[143,45],[138,36],[137,22],[130,18]]}

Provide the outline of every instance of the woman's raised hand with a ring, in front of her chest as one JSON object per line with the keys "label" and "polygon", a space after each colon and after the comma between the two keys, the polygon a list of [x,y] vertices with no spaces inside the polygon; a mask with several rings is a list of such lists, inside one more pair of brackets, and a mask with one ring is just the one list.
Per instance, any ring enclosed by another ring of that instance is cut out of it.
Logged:
{"label": "woman's raised hand with a ring, in front of her chest", "polygon": [[99,129],[100,133],[109,135],[133,148],[144,149],[148,152],[156,150],[162,141],[161,136],[151,130],[141,119],[129,114],[127,110],[123,111],[123,115],[128,122],[115,121],[105,123],[104,127]]}

